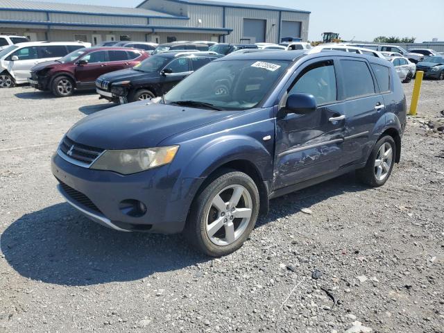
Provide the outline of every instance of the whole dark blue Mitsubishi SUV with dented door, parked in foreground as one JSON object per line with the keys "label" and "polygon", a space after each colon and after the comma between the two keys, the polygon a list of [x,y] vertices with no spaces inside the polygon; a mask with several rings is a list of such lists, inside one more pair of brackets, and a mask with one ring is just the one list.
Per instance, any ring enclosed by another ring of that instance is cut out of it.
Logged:
{"label": "whole dark blue Mitsubishi SUV with dented door, parked in foreground", "polygon": [[268,202],[357,171],[384,185],[400,161],[406,100],[393,65],[304,51],[239,53],[162,98],[85,117],[52,172],[65,199],[114,230],[184,232],[221,256]]}

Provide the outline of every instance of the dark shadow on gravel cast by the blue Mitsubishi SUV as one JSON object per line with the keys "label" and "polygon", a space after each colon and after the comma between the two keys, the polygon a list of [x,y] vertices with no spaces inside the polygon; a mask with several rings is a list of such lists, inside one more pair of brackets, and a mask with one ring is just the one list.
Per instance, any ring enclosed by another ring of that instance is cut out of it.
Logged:
{"label": "dark shadow on gravel cast by the blue Mitsubishi SUV", "polygon": [[[349,173],[276,198],[256,228],[327,198],[365,189]],[[190,248],[180,234],[118,232],[89,221],[67,203],[17,219],[1,234],[0,246],[22,276],[70,286],[139,280],[211,259]]]}

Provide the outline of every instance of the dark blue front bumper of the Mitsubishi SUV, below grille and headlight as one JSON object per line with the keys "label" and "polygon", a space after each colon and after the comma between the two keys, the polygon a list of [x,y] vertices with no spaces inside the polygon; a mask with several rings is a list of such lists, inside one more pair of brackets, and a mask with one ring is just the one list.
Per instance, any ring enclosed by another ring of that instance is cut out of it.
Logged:
{"label": "dark blue front bumper of the Mitsubishi SUV, below grille and headlight", "polygon": [[[192,200],[189,194],[198,186],[195,179],[169,177],[167,166],[123,176],[79,167],[57,153],[52,157],[51,170],[63,184],[58,189],[69,204],[92,221],[119,231],[181,232]],[[78,194],[69,194],[66,188]],[[80,195],[92,205],[85,204]],[[128,199],[144,203],[146,214],[140,217],[124,214],[119,203]]]}

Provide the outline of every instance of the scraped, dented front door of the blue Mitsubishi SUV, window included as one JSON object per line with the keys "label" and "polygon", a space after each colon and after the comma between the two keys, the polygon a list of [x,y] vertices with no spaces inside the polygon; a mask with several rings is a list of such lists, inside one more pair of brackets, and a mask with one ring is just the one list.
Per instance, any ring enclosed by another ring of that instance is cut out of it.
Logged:
{"label": "scraped, dented front door of the blue Mitsubishi SUV, window included", "polygon": [[293,93],[311,94],[318,108],[281,117],[278,112],[273,189],[337,171],[343,154],[345,117],[337,98],[334,61],[307,62],[298,71],[284,99]]}

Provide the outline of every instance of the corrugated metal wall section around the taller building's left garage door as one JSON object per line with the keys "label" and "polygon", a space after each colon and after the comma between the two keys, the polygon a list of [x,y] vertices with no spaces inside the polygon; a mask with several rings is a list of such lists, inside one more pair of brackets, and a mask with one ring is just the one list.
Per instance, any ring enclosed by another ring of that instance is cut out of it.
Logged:
{"label": "corrugated metal wall section around the taller building's left garage door", "polygon": [[266,42],[278,42],[279,12],[272,10],[256,10],[244,8],[225,9],[225,27],[233,29],[232,33],[225,37],[228,43],[239,43],[244,36],[245,19],[266,19]]}

